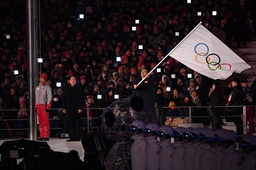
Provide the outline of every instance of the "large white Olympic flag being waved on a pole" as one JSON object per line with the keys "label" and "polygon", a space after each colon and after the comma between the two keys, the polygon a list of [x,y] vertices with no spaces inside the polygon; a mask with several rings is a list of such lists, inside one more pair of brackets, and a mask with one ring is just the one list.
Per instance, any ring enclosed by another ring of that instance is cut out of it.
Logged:
{"label": "large white Olympic flag being waved on a pole", "polygon": [[250,65],[201,23],[168,55],[200,74],[215,80],[225,80],[233,72],[240,73],[250,68]]}

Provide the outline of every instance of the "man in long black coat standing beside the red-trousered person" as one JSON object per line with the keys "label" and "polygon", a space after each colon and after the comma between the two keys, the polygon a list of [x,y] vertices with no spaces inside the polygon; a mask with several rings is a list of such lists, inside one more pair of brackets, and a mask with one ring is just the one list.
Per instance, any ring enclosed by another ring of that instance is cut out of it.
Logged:
{"label": "man in long black coat standing beside the red-trousered person", "polygon": [[69,84],[64,92],[63,113],[69,119],[70,139],[67,141],[80,141],[81,138],[81,116],[84,106],[84,90],[77,85],[75,76],[69,77]]}

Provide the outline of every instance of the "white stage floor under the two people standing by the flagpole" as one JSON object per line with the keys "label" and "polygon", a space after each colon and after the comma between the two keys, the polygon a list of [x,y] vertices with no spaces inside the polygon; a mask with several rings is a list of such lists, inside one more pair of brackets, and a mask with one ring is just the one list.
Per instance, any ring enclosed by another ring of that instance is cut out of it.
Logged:
{"label": "white stage floor under the two people standing by the flagpole", "polygon": [[[18,139],[18,138],[17,138]],[[4,141],[17,140],[17,139],[0,139],[0,146]],[[27,138],[24,138],[27,139]],[[71,150],[76,150],[79,153],[79,157],[84,161],[84,148],[81,141],[66,141],[66,138],[50,138],[49,141],[45,141],[53,151],[62,153],[69,153]]]}

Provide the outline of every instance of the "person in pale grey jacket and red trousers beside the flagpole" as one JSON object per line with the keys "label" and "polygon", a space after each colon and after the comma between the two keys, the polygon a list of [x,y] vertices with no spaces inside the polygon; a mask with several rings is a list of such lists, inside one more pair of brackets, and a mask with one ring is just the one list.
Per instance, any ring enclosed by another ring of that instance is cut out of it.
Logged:
{"label": "person in pale grey jacket and red trousers beside the flagpole", "polygon": [[47,85],[47,74],[42,73],[39,78],[39,85],[36,87],[36,112],[39,123],[39,141],[49,141],[50,123],[49,111],[52,104],[52,89]]}

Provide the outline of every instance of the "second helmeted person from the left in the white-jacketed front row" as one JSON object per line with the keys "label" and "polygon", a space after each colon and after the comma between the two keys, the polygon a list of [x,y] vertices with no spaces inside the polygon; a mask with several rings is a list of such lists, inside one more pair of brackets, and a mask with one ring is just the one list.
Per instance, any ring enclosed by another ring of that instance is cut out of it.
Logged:
{"label": "second helmeted person from the left in the white-jacketed front row", "polygon": [[157,133],[160,126],[157,123],[149,123],[145,127],[145,139],[147,148],[145,149],[145,166],[147,170],[159,170],[160,145],[157,141]]}

